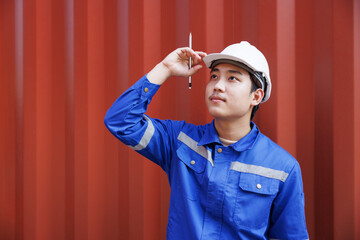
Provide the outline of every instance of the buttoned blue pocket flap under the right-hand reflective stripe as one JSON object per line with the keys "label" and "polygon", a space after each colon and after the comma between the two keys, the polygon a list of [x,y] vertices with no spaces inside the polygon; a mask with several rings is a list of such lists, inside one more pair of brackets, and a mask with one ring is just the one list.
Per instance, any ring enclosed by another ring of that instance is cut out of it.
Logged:
{"label": "buttoned blue pocket flap under the right-hand reflective stripe", "polygon": [[274,195],[279,191],[280,180],[252,173],[241,173],[239,187],[247,192]]}

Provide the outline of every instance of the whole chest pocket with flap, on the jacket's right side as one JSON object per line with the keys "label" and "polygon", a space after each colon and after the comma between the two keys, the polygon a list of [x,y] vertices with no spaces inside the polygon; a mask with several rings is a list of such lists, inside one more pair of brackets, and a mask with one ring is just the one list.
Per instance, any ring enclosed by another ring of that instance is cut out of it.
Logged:
{"label": "whole chest pocket with flap, on the jacket's right side", "polygon": [[268,225],[271,205],[280,182],[252,173],[240,174],[234,210],[234,221],[240,228],[257,229]]}

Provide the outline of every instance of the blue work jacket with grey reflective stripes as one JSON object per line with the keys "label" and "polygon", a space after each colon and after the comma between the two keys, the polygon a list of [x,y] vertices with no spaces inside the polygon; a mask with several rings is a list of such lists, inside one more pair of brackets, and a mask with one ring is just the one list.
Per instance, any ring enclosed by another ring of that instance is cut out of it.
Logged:
{"label": "blue work jacket with grey reflective stripes", "polygon": [[225,147],[213,122],[150,118],[159,87],[141,78],[108,110],[105,125],[168,175],[167,239],[308,239],[298,162],[253,122]]}

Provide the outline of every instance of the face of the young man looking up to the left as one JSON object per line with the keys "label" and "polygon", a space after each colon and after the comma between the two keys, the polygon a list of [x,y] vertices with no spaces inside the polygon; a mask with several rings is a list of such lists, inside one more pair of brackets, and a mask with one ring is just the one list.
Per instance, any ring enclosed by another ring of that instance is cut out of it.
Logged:
{"label": "face of the young man looking up to the left", "polygon": [[249,117],[254,105],[249,73],[237,66],[220,63],[210,72],[205,102],[215,119],[239,120]]}

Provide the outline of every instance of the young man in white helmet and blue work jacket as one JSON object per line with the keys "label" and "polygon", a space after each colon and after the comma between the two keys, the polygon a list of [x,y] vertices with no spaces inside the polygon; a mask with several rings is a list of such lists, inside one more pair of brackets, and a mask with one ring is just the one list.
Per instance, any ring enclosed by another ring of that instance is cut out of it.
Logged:
{"label": "young man in white helmet and blue work jacket", "polygon": [[[205,92],[211,123],[145,115],[169,77],[193,75],[202,60],[211,69]],[[210,55],[180,48],[108,110],[109,131],[168,175],[167,239],[309,238],[299,164],[251,122],[270,93],[267,61],[248,42]]]}

